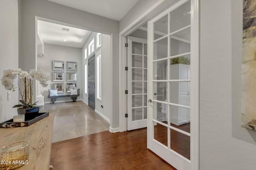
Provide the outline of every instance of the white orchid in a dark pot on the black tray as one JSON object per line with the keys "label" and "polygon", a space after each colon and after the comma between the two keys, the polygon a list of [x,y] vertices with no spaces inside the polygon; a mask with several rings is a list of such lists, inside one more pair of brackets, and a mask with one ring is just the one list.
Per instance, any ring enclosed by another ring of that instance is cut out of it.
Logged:
{"label": "white orchid in a dark pot on the black tray", "polygon": [[[1,79],[2,85],[6,90],[15,91],[16,86],[14,85],[14,80],[17,78],[22,79],[24,90],[20,89],[20,84],[18,83],[18,88],[22,100],[20,100],[21,104],[15,105],[13,107],[18,107],[18,114],[26,114],[26,113],[38,113],[39,107],[36,107],[37,102],[32,102],[32,88],[33,88],[33,80],[38,80],[43,87],[47,87],[47,81],[50,80],[50,76],[44,74],[44,72],[40,70],[32,69],[30,72],[26,72],[18,68],[16,70],[4,70],[4,76]],[[26,115],[25,115],[26,116]]]}

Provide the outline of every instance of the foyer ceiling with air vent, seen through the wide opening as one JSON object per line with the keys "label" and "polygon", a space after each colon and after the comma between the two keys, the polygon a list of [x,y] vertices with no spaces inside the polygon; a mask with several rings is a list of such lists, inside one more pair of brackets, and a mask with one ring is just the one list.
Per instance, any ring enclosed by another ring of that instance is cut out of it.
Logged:
{"label": "foyer ceiling with air vent, seen through the wide opening", "polygon": [[[69,31],[63,31],[62,28]],[[82,48],[91,33],[84,29],[38,20],[38,35],[46,44]]]}

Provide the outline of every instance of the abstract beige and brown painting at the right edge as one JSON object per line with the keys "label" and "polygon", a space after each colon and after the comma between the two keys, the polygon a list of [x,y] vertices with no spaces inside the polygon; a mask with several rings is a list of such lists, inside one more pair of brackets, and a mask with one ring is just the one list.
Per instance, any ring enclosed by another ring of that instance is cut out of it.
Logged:
{"label": "abstract beige and brown painting at the right edge", "polygon": [[256,130],[256,1],[243,1],[242,127]]}

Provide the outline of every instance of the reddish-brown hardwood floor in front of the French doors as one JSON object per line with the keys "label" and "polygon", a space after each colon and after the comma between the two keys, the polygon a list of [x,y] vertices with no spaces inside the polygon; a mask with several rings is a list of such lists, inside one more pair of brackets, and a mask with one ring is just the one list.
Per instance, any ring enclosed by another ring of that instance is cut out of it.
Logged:
{"label": "reddish-brown hardwood floor in front of the French doors", "polygon": [[50,164],[54,170],[176,170],[147,149],[146,128],[52,143]]}

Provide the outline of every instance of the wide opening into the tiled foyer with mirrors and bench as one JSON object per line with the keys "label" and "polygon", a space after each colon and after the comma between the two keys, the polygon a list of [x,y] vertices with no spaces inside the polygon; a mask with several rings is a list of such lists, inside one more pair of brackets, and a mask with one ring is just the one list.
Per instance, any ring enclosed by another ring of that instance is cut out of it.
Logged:
{"label": "wide opening into the tiled foyer with mirrors and bench", "polygon": [[[112,101],[109,100],[109,96],[112,94],[112,86],[109,81],[111,70],[108,68],[111,63],[110,35],[70,27],[66,23],[48,22],[43,19],[37,20],[37,23],[38,37],[41,37],[43,42],[40,45],[44,45],[41,48],[43,49],[42,55],[37,57],[37,69],[45,70],[46,74],[49,75],[55,72],[62,75],[62,81],[51,80],[47,88],[54,89],[61,87],[58,89],[58,94],[60,95],[70,94],[71,89],[80,89],[80,96],[76,102],[70,101],[71,98],[67,97],[59,98],[52,105],[45,97],[48,96],[48,89],[38,88],[38,92],[43,94],[42,96],[44,96],[45,100],[41,111],[55,113],[52,141],[63,141],[102,131],[109,131],[112,113]],[[44,26],[44,24],[46,25]],[[51,36],[48,36],[49,32],[52,33]],[[59,35],[58,33],[62,34]],[[74,33],[79,34],[79,36]],[[90,53],[88,52],[89,50]],[[37,50],[37,52],[39,56],[40,51]],[[95,59],[92,61],[91,57]],[[90,92],[90,107],[88,106],[89,58],[90,66],[92,66],[92,68],[89,68],[90,74],[93,74],[90,75],[92,77],[90,80],[92,84],[90,85],[92,87],[92,91]],[[97,65],[97,59],[100,61],[98,62],[100,63],[99,66]],[[62,63],[63,69],[57,71],[52,70],[52,61],[61,61],[60,63]],[[68,65],[70,62],[76,62],[76,70],[70,70],[70,66]],[[96,79],[96,72],[98,70],[100,72],[98,79]],[[75,75],[75,78],[70,79],[70,74]],[[100,100],[97,98],[96,80],[98,80],[98,87],[100,87],[98,88]],[[102,83],[107,85],[101,88]]]}

